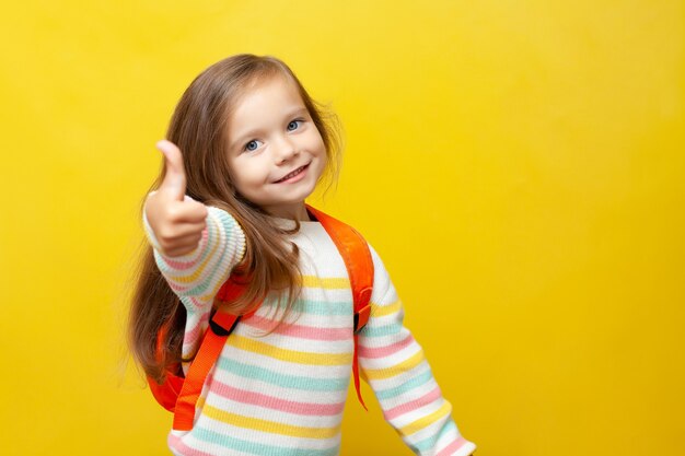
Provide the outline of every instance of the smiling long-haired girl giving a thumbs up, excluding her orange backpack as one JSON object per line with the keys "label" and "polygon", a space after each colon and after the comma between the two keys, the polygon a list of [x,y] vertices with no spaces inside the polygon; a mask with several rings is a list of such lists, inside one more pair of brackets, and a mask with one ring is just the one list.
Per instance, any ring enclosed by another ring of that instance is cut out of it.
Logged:
{"label": "smiling long-haired girl giving a thumbs up, excluding her orange backpack", "polygon": [[[229,305],[248,316],[220,349],[191,430],[169,434],[176,455],[339,453],[352,294],[340,254],[304,204],[324,176],[337,176],[335,119],[282,61],[237,55],[193,81],[169,141],[158,143],[164,167],[142,207],[151,246],[129,326],[148,376],[161,383],[175,363],[187,372],[219,289],[231,273],[249,278]],[[363,378],[416,454],[472,454],[371,256],[372,311],[358,336]],[[253,303],[262,303],[256,312]]]}

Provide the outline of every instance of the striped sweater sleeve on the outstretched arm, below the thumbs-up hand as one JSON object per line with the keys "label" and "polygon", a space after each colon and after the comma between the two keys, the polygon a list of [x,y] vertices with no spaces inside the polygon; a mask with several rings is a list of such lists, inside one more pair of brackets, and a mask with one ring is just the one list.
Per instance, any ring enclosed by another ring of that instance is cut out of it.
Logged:
{"label": "striped sweater sleeve on the outstretched arm, below the thumbs-up hand", "polygon": [[197,248],[177,257],[162,254],[146,211],[142,213],[144,233],[152,245],[156,266],[186,308],[182,348],[185,358],[191,356],[199,347],[214,295],[245,254],[245,234],[235,218],[214,207],[207,207],[207,227],[202,230]]}

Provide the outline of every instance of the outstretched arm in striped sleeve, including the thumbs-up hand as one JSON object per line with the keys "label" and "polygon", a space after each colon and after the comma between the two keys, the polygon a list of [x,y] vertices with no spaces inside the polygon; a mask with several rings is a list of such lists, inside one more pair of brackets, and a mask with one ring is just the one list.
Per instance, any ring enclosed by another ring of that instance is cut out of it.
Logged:
{"label": "outstretched arm in striped sleeve, including the thumbs-up hand", "polygon": [[235,219],[185,195],[183,155],[160,141],[165,175],[143,208],[144,233],[154,260],[170,288],[186,308],[183,356],[197,350],[208,325],[213,297],[245,253],[245,234]]}

